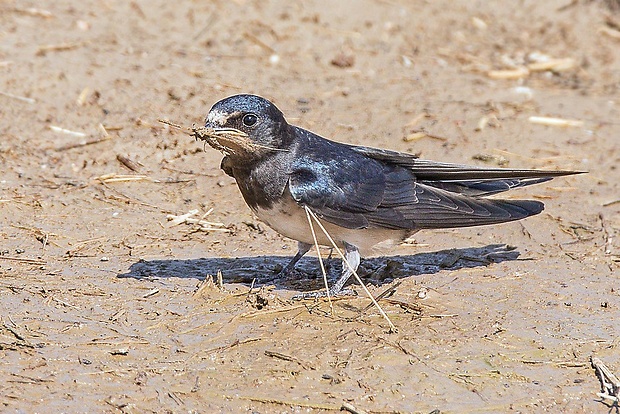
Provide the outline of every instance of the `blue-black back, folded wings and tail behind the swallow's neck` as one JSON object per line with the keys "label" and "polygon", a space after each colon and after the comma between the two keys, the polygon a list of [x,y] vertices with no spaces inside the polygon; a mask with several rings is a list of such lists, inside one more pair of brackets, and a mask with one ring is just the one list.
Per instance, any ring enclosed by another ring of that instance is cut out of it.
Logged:
{"label": "blue-black back, folded wings and tail behind the swallow's neck", "polygon": [[544,209],[532,200],[485,196],[579,171],[485,168],[340,144],[304,131],[293,198],[345,228],[432,229],[519,220]]}

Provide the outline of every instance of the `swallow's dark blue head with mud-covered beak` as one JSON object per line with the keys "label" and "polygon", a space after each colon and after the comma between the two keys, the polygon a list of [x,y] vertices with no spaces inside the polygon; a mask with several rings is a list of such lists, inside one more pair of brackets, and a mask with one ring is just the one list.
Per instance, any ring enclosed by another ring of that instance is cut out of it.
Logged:
{"label": "swallow's dark blue head with mud-covered beak", "polygon": [[217,102],[198,138],[243,161],[287,151],[289,125],[280,110],[256,95],[234,95]]}

